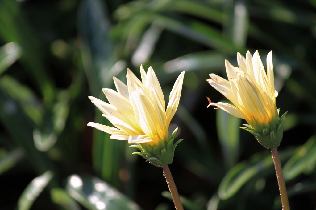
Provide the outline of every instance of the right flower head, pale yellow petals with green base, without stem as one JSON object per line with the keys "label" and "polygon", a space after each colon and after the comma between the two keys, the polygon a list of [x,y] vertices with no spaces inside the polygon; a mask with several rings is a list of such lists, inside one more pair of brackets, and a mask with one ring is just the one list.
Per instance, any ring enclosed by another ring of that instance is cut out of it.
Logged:
{"label": "right flower head, pale yellow petals with green base, without stem", "polygon": [[272,51],[267,55],[267,73],[258,50],[253,56],[248,51],[246,58],[237,54],[239,67],[225,60],[228,80],[210,74],[208,83],[222,93],[233,105],[224,102],[211,102],[235,117],[245,119],[249,125],[243,129],[255,135],[266,148],[277,148],[282,140],[284,114],[279,118],[276,108],[278,92],[274,89]]}

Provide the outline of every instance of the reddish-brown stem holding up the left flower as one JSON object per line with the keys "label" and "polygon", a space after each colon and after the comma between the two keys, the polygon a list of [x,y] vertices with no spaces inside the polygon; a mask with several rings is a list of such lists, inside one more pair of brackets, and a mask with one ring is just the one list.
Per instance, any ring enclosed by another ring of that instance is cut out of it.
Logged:
{"label": "reddish-brown stem holding up the left flower", "polygon": [[163,175],[165,176],[167,184],[168,184],[169,191],[171,192],[174,207],[177,210],[183,210],[183,206],[182,206],[182,203],[180,201],[180,196],[178,194],[176,184],[174,184],[169,166],[168,165],[163,166],[162,169],[163,169]]}

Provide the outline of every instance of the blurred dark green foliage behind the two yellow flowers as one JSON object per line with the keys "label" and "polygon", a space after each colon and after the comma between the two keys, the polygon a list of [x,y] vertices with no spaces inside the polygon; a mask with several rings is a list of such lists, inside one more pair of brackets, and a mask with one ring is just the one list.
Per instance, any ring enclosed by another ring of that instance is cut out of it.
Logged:
{"label": "blurred dark green foliage behind the two yellow flowers", "polygon": [[0,1],[0,208],[173,209],[161,168],[108,124],[112,77],[151,65],[165,98],[186,71],[169,167],[188,210],[281,209],[270,151],[208,101],[224,60],[273,50],[279,155],[291,210],[316,209],[316,3],[272,0]]}

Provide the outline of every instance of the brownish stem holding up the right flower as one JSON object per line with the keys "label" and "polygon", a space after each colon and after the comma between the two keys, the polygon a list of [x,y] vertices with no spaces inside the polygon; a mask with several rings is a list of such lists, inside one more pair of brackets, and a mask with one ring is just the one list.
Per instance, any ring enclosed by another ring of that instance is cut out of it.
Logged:
{"label": "brownish stem holding up the right flower", "polygon": [[289,210],[290,209],[289,199],[288,199],[288,194],[286,192],[286,187],[285,187],[285,182],[284,182],[284,177],[283,177],[283,172],[282,172],[282,166],[281,166],[281,162],[280,162],[280,158],[279,158],[279,154],[277,152],[277,149],[271,148],[271,154],[272,154],[272,158],[273,158],[273,162],[274,162],[274,167],[276,169],[276,178],[277,178],[277,182],[279,184],[282,209]]}

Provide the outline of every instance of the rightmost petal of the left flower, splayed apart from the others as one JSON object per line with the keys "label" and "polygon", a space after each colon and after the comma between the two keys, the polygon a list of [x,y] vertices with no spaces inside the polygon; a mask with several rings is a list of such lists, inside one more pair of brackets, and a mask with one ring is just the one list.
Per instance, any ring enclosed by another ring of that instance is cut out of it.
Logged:
{"label": "rightmost petal of the left flower, splayed apart from the others", "polygon": [[180,73],[169,95],[169,102],[166,109],[167,127],[169,127],[170,121],[173,118],[174,114],[176,113],[178,105],[179,105],[184,73],[185,71]]}

